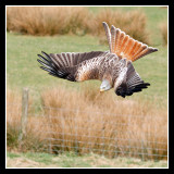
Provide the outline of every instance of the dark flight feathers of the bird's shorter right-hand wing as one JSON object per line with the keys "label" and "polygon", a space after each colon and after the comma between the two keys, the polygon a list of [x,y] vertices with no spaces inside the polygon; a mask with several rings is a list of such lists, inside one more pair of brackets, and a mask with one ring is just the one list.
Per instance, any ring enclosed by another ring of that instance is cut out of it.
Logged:
{"label": "dark flight feathers of the bird's shorter right-hand wing", "polygon": [[126,96],[132,96],[134,92],[141,91],[142,89],[150,86],[149,83],[145,83],[140,78],[139,74],[135,71],[132,62],[128,61],[127,67],[126,79],[115,91],[117,96],[122,96],[124,98]]}

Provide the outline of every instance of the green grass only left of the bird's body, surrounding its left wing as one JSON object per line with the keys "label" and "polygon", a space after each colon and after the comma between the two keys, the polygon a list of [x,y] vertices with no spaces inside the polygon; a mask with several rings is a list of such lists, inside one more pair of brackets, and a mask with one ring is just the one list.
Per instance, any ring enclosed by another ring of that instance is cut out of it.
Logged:
{"label": "green grass only left of the bird's body, surrounding its left wing", "polygon": [[44,87],[62,85],[78,87],[79,84],[59,79],[39,69],[37,54],[46,52],[85,52],[105,50],[92,36],[34,37],[7,33],[7,86],[9,88],[28,87],[30,95],[37,95]]}

